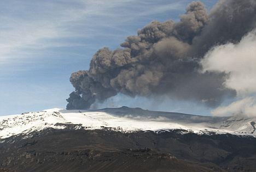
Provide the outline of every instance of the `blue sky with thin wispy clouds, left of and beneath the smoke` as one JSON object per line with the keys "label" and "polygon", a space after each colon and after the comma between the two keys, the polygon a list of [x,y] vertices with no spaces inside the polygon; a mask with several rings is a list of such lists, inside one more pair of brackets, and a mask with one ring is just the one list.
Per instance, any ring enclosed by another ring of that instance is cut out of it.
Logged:
{"label": "blue sky with thin wispy clouds, left of and beneath the smoke", "polygon": [[[102,47],[115,49],[128,35],[158,20],[179,20],[190,0],[46,0],[0,2],[0,115],[65,108],[69,76],[89,68]],[[208,10],[217,0],[205,0]],[[193,102],[118,95],[98,104],[210,114]],[[95,106],[96,107],[96,106]]]}

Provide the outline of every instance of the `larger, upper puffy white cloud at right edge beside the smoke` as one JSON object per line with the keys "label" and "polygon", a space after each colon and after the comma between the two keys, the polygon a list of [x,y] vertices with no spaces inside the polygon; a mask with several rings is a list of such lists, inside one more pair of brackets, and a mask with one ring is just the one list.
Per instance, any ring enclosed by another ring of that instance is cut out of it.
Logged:
{"label": "larger, upper puffy white cloud at right edge beside the smoke", "polygon": [[256,92],[256,34],[246,35],[238,44],[214,47],[201,61],[203,71],[229,73],[225,86],[238,94]]}

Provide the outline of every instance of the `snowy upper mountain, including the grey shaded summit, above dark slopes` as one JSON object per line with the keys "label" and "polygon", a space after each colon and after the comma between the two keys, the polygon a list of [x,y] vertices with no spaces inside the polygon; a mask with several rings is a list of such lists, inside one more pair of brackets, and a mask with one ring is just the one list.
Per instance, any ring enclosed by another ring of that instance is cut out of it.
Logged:
{"label": "snowy upper mountain, including the grey shaded summit, above dark slopes", "polygon": [[140,108],[106,108],[101,110],[48,109],[20,115],[0,116],[0,138],[29,134],[45,128],[122,132],[168,131],[181,129],[197,134],[230,133],[256,136],[256,118],[242,116],[213,117],[170,112],[155,112]]}

